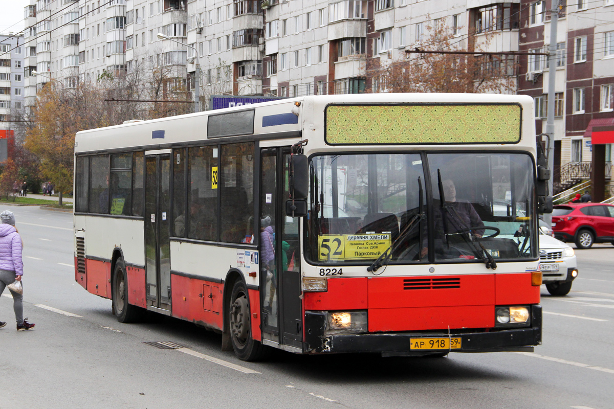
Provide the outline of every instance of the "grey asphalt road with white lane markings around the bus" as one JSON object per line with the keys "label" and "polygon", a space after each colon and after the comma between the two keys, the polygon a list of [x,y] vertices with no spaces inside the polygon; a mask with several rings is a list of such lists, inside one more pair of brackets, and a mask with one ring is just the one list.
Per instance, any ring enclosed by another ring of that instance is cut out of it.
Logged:
{"label": "grey asphalt road with white lane markings around the bus", "polygon": [[[580,276],[569,296],[542,289],[543,345],[533,354],[382,358],[278,351],[253,363],[220,351],[220,335],[176,319],[118,323],[110,300],[74,281],[71,213],[10,210],[25,245],[25,316],[36,328],[15,331],[5,291],[0,409],[614,407],[612,245],[576,251]],[[160,341],[187,348],[144,343]]]}

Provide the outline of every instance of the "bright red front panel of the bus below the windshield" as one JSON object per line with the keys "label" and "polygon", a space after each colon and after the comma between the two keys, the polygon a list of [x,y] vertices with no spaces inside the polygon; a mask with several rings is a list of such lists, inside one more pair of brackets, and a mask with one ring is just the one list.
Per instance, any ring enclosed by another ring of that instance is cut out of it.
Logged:
{"label": "bright red front panel of the bus below the windshield", "polygon": [[370,332],[494,327],[495,305],[538,304],[531,273],[329,278],[305,310],[368,310]]}

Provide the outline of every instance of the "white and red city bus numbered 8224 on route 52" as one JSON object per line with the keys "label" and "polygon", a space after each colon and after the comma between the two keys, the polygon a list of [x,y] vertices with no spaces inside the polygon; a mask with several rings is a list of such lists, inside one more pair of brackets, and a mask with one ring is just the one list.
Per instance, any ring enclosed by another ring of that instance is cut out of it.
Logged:
{"label": "white and red city bus numbered 8224 on route 52", "polygon": [[79,132],[75,278],[293,353],[531,351],[542,337],[532,99],[306,96]]}

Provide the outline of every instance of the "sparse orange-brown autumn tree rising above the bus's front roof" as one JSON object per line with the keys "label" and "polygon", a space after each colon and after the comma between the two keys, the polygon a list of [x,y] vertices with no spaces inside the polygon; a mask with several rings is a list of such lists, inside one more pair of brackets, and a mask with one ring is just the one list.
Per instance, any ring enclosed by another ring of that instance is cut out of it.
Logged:
{"label": "sparse orange-brown autumn tree rising above the bus's front roof", "polygon": [[[412,51],[465,52],[451,29],[439,24],[427,27],[421,47]],[[470,51],[484,52],[490,34],[480,36],[480,44]],[[514,93],[516,56],[406,53],[405,58],[392,60],[386,66],[368,71],[373,78],[372,92],[394,93]]]}

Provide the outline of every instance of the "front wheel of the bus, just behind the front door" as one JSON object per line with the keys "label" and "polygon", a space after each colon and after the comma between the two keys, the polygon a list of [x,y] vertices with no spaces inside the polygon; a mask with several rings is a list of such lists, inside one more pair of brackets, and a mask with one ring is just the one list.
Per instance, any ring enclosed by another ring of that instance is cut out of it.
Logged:
{"label": "front wheel of the bus, just behind the front door", "polygon": [[258,361],[266,354],[266,346],[252,339],[249,294],[243,281],[236,280],[230,293],[228,308],[230,342],[241,361]]}

